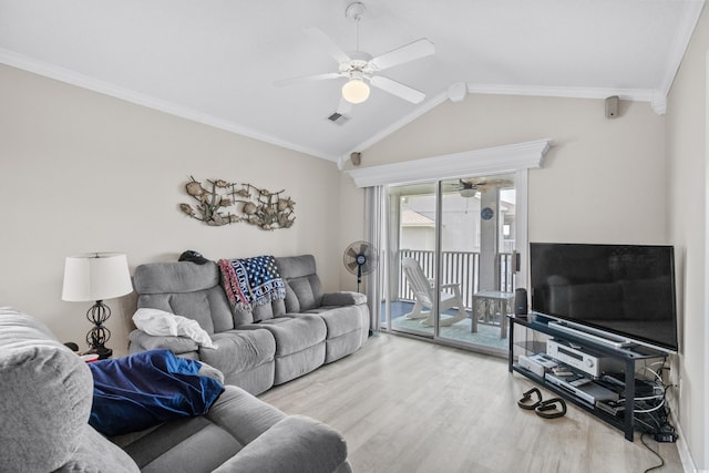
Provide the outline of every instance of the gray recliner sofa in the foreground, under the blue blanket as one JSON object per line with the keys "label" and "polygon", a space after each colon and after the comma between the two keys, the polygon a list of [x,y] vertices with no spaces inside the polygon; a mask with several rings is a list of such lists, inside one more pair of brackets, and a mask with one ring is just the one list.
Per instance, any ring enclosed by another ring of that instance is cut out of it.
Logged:
{"label": "gray recliner sofa in the foreground, under the blue blanket", "polygon": [[0,309],[0,379],[1,471],[351,472],[338,432],[234,385],[205,415],[107,439],[88,422],[86,363],[37,319],[9,309]]}

